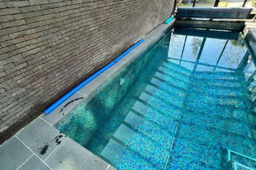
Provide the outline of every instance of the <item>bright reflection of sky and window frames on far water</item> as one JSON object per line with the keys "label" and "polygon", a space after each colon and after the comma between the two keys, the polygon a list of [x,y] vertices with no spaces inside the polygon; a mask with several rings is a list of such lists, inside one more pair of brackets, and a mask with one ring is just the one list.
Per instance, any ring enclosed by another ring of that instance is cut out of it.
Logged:
{"label": "bright reflection of sky and window frames on far water", "polygon": [[[208,67],[232,70],[238,68],[247,52],[241,34],[237,40],[207,37],[204,44],[202,40],[202,37],[172,34],[168,57],[186,62],[199,60],[196,63],[198,65],[209,64]],[[180,48],[172,48],[173,46]],[[202,52],[201,56],[198,56],[200,48]],[[209,51],[211,52],[209,53]],[[191,64],[189,68],[191,68]]]}

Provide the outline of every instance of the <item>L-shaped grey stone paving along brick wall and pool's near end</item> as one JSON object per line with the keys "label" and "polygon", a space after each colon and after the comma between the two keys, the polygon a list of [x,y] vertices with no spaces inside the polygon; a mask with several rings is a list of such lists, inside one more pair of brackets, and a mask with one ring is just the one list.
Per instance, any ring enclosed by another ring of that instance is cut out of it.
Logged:
{"label": "L-shaped grey stone paving along brick wall and pool's near end", "polygon": [[145,41],[119,62],[85,85],[49,115],[41,115],[0,146],[0,164],[4,170],[115,170],[110,164],[58,131],[54,125],[87,99],[123,65],[157,41],[174,24],[162,24]]}

